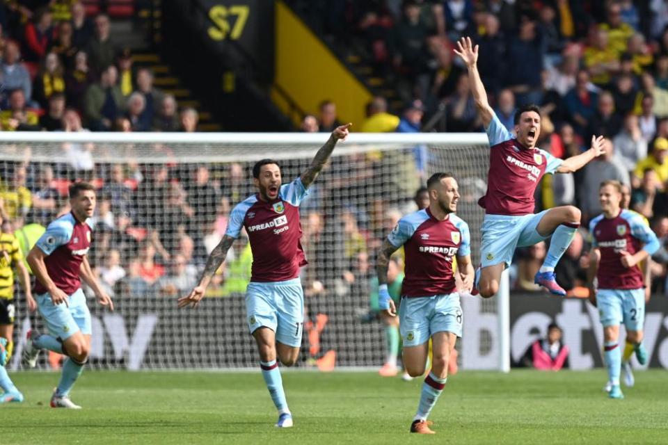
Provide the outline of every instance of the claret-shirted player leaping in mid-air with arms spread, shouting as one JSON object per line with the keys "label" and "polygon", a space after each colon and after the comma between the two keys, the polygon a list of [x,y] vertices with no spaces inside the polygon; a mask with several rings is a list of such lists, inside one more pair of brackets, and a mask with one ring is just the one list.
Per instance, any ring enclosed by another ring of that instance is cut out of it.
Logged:
{"label": "claret-shirted player leaping in mid-air with arms spread, shouting", "polygon": [[468,67],[475,104],[491,146],[487,193],[479,200],[485,218],[481,228],[481,270],[475,287],[485,298],[494,296],[515,248],[534,245],[552,235],[550,249],[534,282],[550,293],[565,296],[566,291],[555,280],[554,270],[580,227],[580,210],[563,206],[534,215],[534,191],[546,173],[575,172],[603,154],[603,137],[592,136],[587,152],[565,161],[557,159],[536,148],[541,131],[540,109],[527,105],[515,113],[517,137],[513,138],[487,102],[476,66],[478,46],[473,47],[470,38],[462,38],[457,48],[454,52]]}

